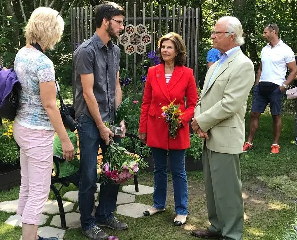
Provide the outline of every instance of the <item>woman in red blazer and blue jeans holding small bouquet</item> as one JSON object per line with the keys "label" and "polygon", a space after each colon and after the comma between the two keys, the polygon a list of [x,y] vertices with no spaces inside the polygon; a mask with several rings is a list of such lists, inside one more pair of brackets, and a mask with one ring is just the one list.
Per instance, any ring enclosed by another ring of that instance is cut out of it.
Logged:
{"label": "woman in red blazer and blue jeans holding small bouquet", "polygon": [[[186,46],[181,36],[175,32],[162,36],[158,48],[161,64],[148,70],[139,125],[139,138],[151,147],[155,164],[154,204],[143,214],[151,216],[165,211],[169,152],[176,212],[174,225],[179,226],[186,222],[188,213],[185,152],[190,146],[188,123],[194,116],[198,95],[193,70],[184,66]],[[167,123],[161,116],[161,107],[169,105],[174,99],[174,104],[180,104],[184,114],[180,116],[182,126],[173,139],[169,136]]]}

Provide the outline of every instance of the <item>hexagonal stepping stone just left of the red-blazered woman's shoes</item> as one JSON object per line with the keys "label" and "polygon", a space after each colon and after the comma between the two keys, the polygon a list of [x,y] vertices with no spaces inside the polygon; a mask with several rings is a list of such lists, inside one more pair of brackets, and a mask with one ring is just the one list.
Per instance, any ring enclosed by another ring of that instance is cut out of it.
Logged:
{"label": "hexagonal stepping stone just left of the red-blazered woman's shoes", "polygon": [[118,206],[116,213],[133,218],[139,218],[143,216],[143,212],[146,211],[149,207],[149,205],[140,203],[130,203]]}

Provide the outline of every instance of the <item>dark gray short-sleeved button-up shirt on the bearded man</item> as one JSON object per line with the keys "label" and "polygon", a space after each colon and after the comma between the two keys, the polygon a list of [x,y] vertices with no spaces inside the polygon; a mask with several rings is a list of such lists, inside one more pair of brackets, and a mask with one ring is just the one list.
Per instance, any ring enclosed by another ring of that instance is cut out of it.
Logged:
{"label": "dark gray short-sleeved button-up shirt on the bearded man", "polygon": [[120,69],[120,54],[118,45],[110,40],[107,47],[104,46],[96,32],[74,51],[76,119],[81,114],[93,119],[83,97],[80,74],[94,74],[94,95],[102,121],[114,120],[115,84],[117,72]]}

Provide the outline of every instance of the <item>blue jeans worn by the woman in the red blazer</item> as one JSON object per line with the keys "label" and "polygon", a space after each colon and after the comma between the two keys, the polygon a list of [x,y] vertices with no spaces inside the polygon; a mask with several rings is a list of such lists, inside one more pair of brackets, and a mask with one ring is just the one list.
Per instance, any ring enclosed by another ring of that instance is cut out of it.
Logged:
{"label": "blue jeans worn by the woman in the red blazer", "polygon": [[[154,158],[154,205],[164,209],[167,195],[167,150],[151,147]],[[177,215],[188,213],[188,181],[185,169],[186,150],[169,150],[173,181],[174,204]]]}

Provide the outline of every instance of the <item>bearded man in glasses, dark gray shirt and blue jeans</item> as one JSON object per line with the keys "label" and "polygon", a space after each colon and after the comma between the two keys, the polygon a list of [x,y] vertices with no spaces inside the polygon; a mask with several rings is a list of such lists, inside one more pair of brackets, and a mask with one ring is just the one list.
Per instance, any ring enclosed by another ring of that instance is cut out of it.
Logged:
{"label": "bearded man in glasses, dark gray shirt and blue jeans", "polygon": [[[118,38],[124,29],[124,14],[123,8],[114,2],[105,1],[96,6],[96,32],[73,54],[75,118],[78,121],[81,161],[78,200],[82,234],[90,239],[108,238],[99,226],[115,230],[128,227],[113,215],[119,184],[101,184],[99,205],[95,216],[92,216],[94,193],[97,190],[97,153],[100,146],[104,155],[109,137],[114,137],[104,122],[114,120],[115,110],[122,101],[119,83],[120,48],[111,38]],[[126,131],[124,121],[120,127]]]}

